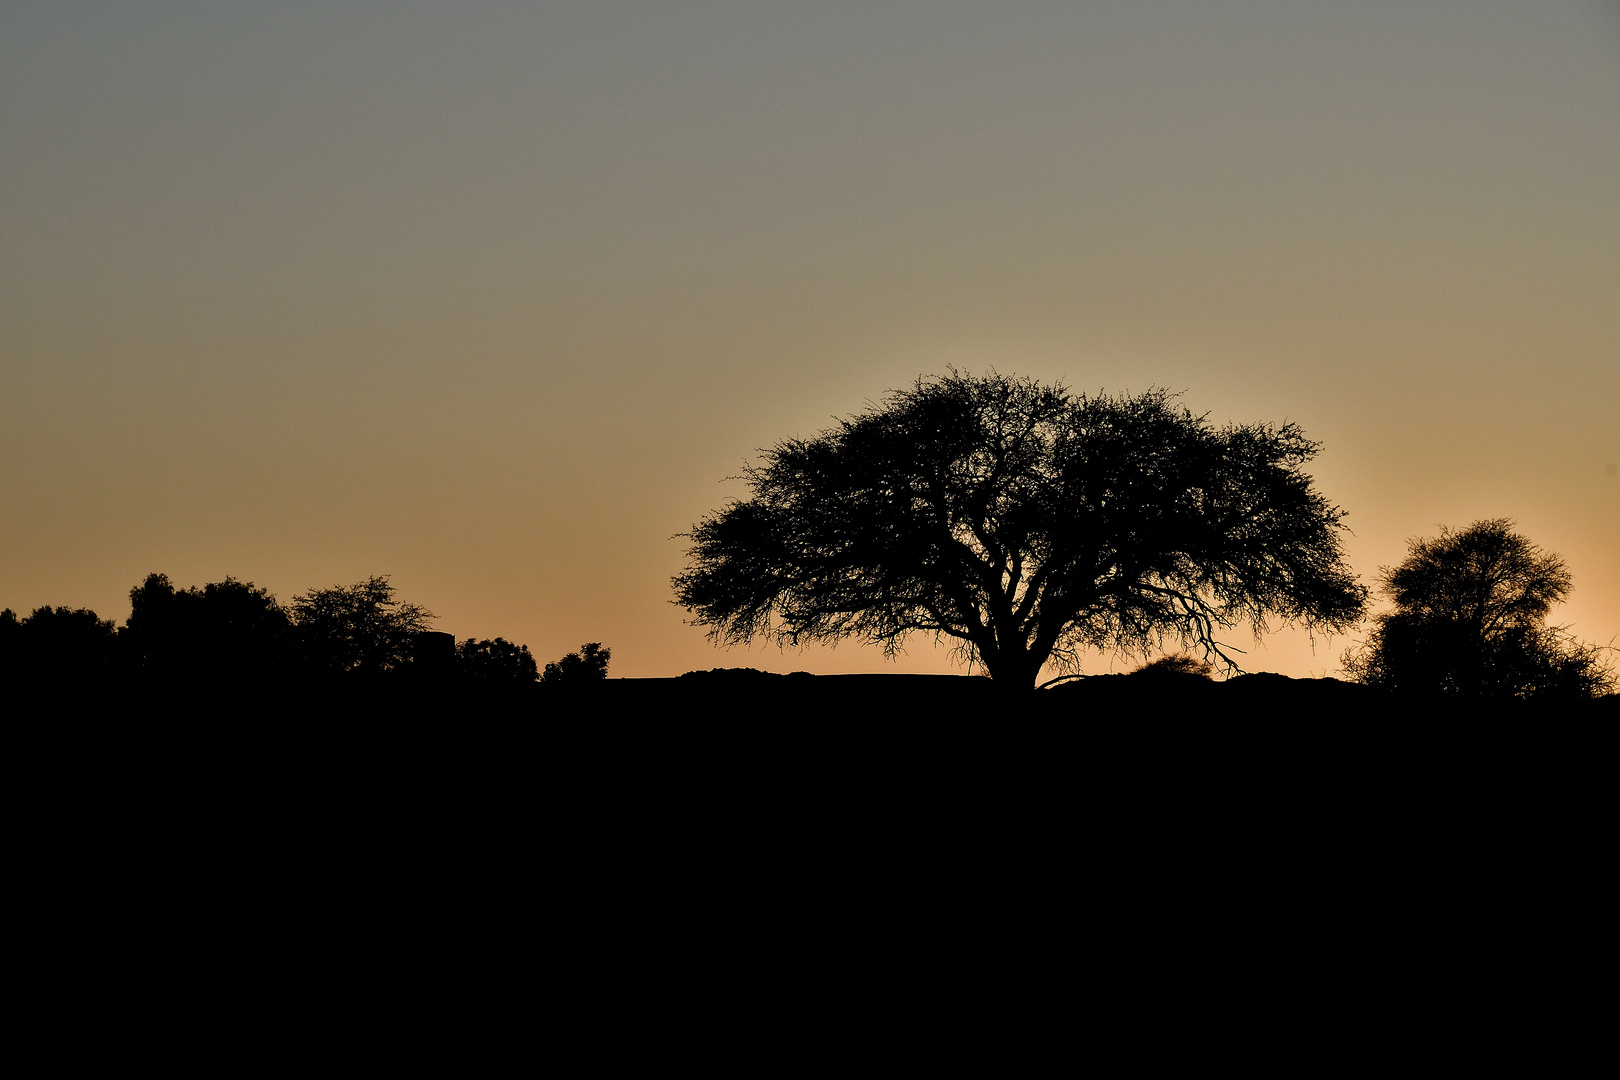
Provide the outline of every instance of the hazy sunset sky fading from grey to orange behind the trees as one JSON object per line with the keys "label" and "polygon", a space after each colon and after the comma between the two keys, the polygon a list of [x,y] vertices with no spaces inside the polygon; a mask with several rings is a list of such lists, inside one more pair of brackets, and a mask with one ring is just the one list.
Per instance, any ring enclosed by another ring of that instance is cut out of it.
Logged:
{"label": "hazy sunset sky fading from grey to orange behind the trees", "polygon": [[669,586],[948,366],[1294,421],[1364,581],[1513,518],[1620,644],[1620,3],[0,5],[0,607],[386,573],[612,675],[962,670]]}

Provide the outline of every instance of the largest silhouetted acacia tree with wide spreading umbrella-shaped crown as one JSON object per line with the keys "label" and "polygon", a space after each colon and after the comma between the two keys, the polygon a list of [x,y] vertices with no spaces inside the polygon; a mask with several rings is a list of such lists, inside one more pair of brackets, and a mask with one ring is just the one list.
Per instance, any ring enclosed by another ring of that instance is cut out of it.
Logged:
{"label": "largest silhouetted acacia tree with wide spreading umbrella-shaped crown", "polygon": [[1293,424],[1215,427],[1165,392],[1074,395],[951,372],[779,444],[687,536],[677,602],[723,643],[912,633],[1013,688],[1081,648],[1166,636],[1231,665],[1217,631],[1341,630],[1366,589]]}

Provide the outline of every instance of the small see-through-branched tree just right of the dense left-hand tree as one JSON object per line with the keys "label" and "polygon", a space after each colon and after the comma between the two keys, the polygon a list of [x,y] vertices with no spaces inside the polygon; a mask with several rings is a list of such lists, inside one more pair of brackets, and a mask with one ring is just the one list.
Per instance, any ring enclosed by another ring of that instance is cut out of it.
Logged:
{"label": "small see-through-branched tree just right of the dense left-hand tree", "polygon": [[386,576],[309,589],[292,604],[305,662],[327,674],[399,670],[411,661],[415,638],[433,617],[424,607],[394,599]]}

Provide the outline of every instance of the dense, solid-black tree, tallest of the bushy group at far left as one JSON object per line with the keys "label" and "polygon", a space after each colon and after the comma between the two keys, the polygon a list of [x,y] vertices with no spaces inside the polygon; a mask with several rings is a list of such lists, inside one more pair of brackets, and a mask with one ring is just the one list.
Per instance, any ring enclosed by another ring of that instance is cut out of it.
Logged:
{"label": "dense, solid-black tree, tallest of the bushy group at far left", "polygon": [[288,664],[292,620],[251,581],[177,589],[152,573],[130,589],[130,620],[118,631],[131,665],[156,678],[274,677]]}

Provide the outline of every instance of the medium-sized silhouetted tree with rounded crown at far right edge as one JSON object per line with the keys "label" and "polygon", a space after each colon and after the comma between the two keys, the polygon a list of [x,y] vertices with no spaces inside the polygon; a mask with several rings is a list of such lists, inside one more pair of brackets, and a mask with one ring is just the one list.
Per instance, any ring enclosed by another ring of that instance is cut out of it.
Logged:
{"label": "medium-sized silhouetted tree with rounded crown at far right edge", "polygon": [[1592,698],[1614,688],[1604,649],[1545,625],[1573,585],[1563,560],[1507,518],[1408,541],[1406,560],[1383,567],[1380,583],[1395,610],[1377,615],[1367,643],[1345,656],[1353,678],[1461,698]]}

